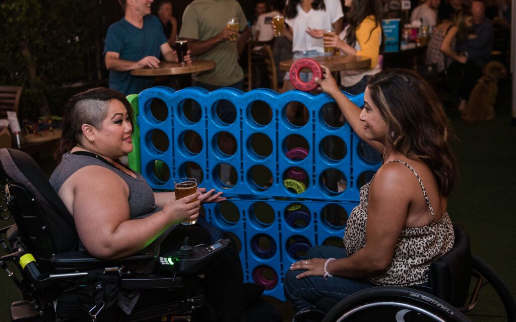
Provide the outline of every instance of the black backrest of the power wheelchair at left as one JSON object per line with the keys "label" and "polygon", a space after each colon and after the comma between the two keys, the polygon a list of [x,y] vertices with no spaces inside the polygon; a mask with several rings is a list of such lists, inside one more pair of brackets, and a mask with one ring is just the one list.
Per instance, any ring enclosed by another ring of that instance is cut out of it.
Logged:
{"label": "black backrest of the power wheelchair at left", "polygon": [[7,180],[6,200],[26,250],[51,269],[53,254],[77,249],[73,217],[33,158],[0,149],[0,171]]}

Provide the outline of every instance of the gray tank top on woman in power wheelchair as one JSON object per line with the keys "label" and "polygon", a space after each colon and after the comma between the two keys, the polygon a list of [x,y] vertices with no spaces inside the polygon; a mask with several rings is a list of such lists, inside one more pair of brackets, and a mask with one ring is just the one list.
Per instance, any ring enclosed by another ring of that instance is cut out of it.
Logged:
{"label": "gray tank top on woman in power wheelchair", "polygon": [[[74,155],[66,153],[62,156],[61,163],[56,167],[56,170],[50,177],[50,183],[56,192],[59,192],[61,185],[73,175],[77,170],[88,166],[88,165],[99,165],[108,168],[112,172],[116,173],[129,188],[129,202],[130,218],[138,219],[147,217],[160,209],[154,204],[154,193],[147,181],[142,177],[141,174],[135,173],[136,178],[127,175],[121,170],[109,166],[102,160],[94,157]],[[95,180],[95,178],[91,178]]]}

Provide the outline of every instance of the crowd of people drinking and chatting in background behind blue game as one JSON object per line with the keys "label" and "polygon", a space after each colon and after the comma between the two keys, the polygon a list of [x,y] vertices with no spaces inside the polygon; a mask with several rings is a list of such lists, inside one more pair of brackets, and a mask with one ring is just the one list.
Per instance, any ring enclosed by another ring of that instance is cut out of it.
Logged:
{"label": "crowd of people drinking and chatting in background behind blue game", "polygon": [[[255,41],[272,47],[280,91],[293,89],[288,73],[279,71],[282,60],[326,55],[325,44],[341,55],[367,56],[372,60],[369,69],[342,72],[338,80],[342,89],[360,93],[367,80],[382,69],[382,19],[400,18],[401,25],[415,23],[429,28],[426,65],[446,76],[459,109],[491,59],[493,22],[508,26],[511,10],[506,0],[412,0],[412,10],[402,10],[400,0],[256,0],[247,19],[236,0],[195,0],[183,12],[174,11],[171,0],[162,0],[154,7],[156,19],[150,14],[150,2],[120,2],[125,16],[110,26],[104,54],[109,87],[124,94],[154,85],[151,78],[134,77],[130,71],[157,67],[160,60],[176,61],[173,49],[177,39],[188,41],[193,59],[213,60],[215,68],[183,76],[180,82],[169,83],[171,87],[244,90],[244,70],[249,66],[243,52],[248,50],[248,42]],[[285,16],[286,27],[283,36],[274,37],[271,21],[278,14]],[[229,16],[239,19],[238,31],[226,26]],[[323,38],[323,29],[333,29],[332,37]],[[233,37],[237,41],[230,41]],[[302,80],[308,77],[301,74]]]}

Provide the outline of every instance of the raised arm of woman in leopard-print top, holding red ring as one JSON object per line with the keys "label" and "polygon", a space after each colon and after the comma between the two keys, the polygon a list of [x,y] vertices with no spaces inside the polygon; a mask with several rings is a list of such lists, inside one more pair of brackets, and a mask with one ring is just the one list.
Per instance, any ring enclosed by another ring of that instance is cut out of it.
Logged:
{"label": "raised arm of woman in leopard-print top, holding red ring", "polygon": [[353,131],[359,135],[360,139],[372,146],[375,150],[380,152],[380,154],[383,154],[384,147],[381,143],[368,140],[365,137],[364,124],[360,121],[360,113],[362,112],[362,109],[354,105],[346,95],[338,89],[337,83],[333,76],[331,76],[331,72],[328,67],[322,65],[321,67],[324,69],[326,79],[322,80],[317,78],[315,79],[315,82],[320,85],[322,91],[335,99],[338,107],[342,111],[342,114],[344,114],[346,121],[349,123]]}

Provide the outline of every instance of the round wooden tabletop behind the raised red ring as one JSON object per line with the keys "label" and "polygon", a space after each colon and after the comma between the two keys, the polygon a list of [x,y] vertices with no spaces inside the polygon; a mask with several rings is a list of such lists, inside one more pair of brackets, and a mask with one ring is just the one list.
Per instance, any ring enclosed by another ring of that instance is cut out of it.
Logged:
{"label": "round wooden tabletop behind the raised red ring", "polygon": [[[317,56],[307,57],[317,61],[321,65],[325,65],[331,72],[359,70],[367,68],[371,65],[371,59],[364,56]],[[288,72],[294,59],[280,61],[280,70]],[[303,72],[310,72],[309,69],[303,69]]]}

